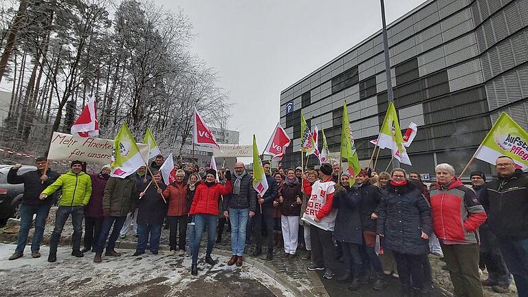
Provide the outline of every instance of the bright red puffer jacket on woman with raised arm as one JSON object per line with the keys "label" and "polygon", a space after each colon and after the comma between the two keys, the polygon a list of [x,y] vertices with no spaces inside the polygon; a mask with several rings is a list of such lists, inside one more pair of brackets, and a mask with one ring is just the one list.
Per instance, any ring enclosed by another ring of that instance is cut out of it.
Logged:
{"label": "bright red puffer jacket on woman with raised arm", "polygon": [[195,198],[192,199],[189,214],[213,214],[218,215],[218,200],[220,195],[228,195],[233,191],[232,182],[226,181],[225,186],[215,183],[207,186],[202,182],[196,187]]}

